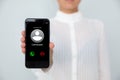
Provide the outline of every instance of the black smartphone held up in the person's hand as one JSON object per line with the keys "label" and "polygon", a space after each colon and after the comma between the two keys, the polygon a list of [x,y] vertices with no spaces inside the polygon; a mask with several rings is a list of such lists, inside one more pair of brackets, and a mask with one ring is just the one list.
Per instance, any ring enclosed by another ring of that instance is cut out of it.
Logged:
{"label": "black smartphone held up in the person's hand", "polygon": [[25,66],[27,68],[49,67],[50,21],[27,18],[25,20]]}

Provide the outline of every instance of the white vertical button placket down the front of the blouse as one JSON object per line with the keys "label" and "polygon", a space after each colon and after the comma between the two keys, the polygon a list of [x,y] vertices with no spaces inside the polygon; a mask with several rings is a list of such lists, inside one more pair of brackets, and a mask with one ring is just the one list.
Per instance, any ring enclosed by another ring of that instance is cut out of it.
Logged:
{"label": "white vertical button placket down the front of the blouse", "polygon": [[72,72],[71,80],[77,80],[77,43],[75,35],[75,25],[74,22],[69,23],[70,26],[70,40],[71,40],[71,51],[72,51]]}

